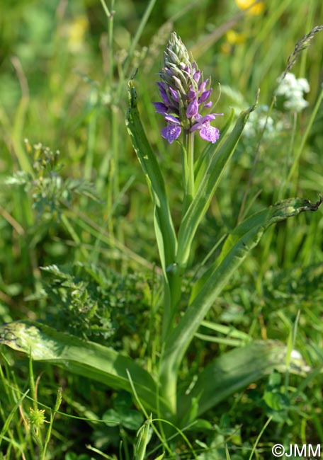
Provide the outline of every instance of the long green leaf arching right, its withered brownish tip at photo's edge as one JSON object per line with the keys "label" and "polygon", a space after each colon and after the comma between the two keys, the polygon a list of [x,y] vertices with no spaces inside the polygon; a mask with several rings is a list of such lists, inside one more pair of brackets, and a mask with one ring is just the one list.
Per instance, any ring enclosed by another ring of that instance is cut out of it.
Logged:
{"label": "long green leaf arching right, its withered brownish tip at photo's edge", "polygon": [[222,288],[227,284],[229,277],[234,270],[237,270],[249,251],[256,246],[268,226],[300,212],[316,211],[321,202],[322,198],[314,204],[300,198],[285,200],[252,215],[227,237],[219,257],[208,271],[208,277],[203,277],[203,282],[197,283],[195,297],[165,343],[161,364],[162,386],[165,389],[163,396],[172,402],[173,410],[179,364],[194,333]]}

